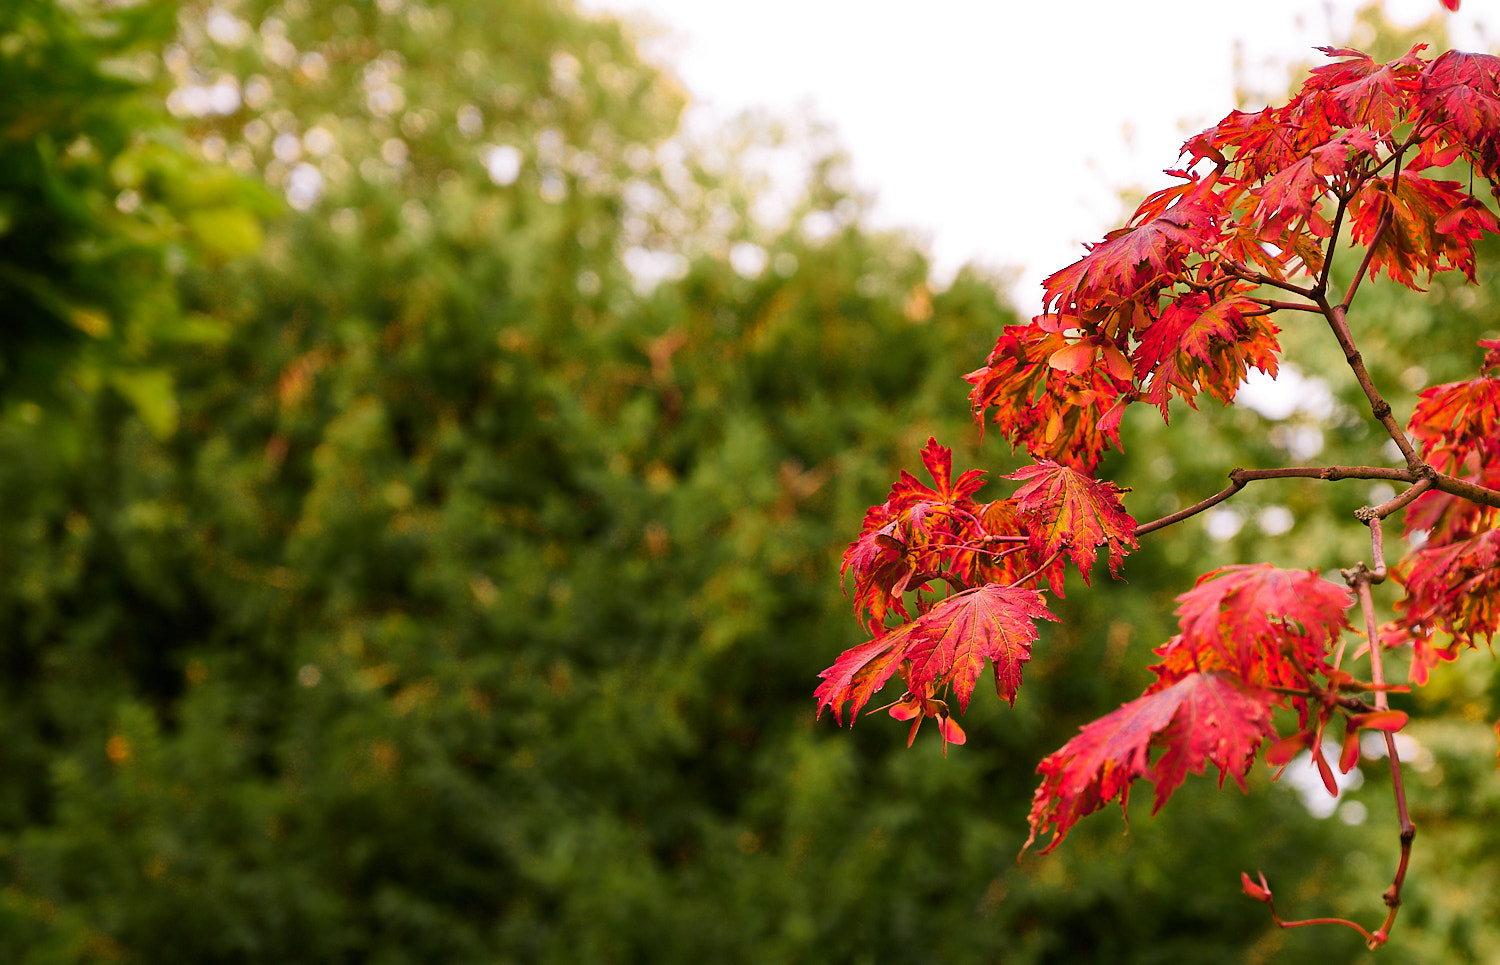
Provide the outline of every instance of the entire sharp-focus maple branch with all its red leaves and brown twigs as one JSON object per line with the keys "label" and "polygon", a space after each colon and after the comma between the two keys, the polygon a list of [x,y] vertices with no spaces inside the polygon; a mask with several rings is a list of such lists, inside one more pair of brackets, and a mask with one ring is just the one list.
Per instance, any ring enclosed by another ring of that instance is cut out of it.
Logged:
{"label": "entire sharp-focus maple branch with all its red leaves and brown twigs", "polygon": [[[1410,647],[1408,683],[1420,686],[1436,662],[1500,629],[1500,342],[1480,342],[1479,374],[1425,390],[1401,425],[1364,365],[1350,312],[1372,276],[1414,290],[1440,272],[1474,281],[1476,242],[1500,231],[1474,194],[1488,186],[1500,198],[1500,59],[1428,57],[1418,45],[1377,63],[1356,50],[1322,50],[1330,63],[1288,104],[1234,111],[1188,140],[1168,171],[1174,183],[1048,276],[1042,314],[1005,329],[984,366],[964,377],[975,417],[999,426],[1035,465],[1008,477],[1018,489],[981,501],[982,473],[954,480],[950,450],[927,444],[933,485],[903,474],[844,554],[873,639],[824,671],[816,698],[840,720],[848,705],[852,722],[898,675],[906,690],[888,705],[891,716],[939,719],[946,750],[964,735],[945,695],[966,708],[988,663],[998,692],[1014,702],[1035,621],[1054,618],[1046,594],[1062,594],[1070,567],[1088,582],[1102,549],[1118,576],[1138,537],[1256,480],[1406,483],[1356,513],[1370,528],[1371,560],[1342,570],[1347,588],[1270,563],[1198,579],[1179,597],[1180,632],[1155,651],[1155,683],[1041,762],[1030,812],[1032,842],[1050,833],[1052,849],[1083,815],[1124,804],[1137,779],[1155,785],[1160,809],[1188,771],[1210,764],[1220,783],[1244,786],[1262,749],[1272,765],[1310,750],[1336,791],[1332,767],[1348,771],[1359,734],[1372,731],[1390,759],[1401,860],[1377,927],[1332,921],[1378,947],[1401,903],[1414,836],[1392,740],[1407,716],[1386,696],[1404,687],[1386,683],[1382,651]],[[1454,165],[1472,176],[1443,177]],[[1358,266],[1341,291],[1335,260]],[[1280,312],[1326,321],[1406,465],[1234,470],[1221,492],[1137,524],[1122,491],[1095,476],[1104,453],[1120,447],[1125,407],[1144,402],[1167,419],[1174,398],[1227,404],[1251,369],[1275,375]],[[1388,567],[1382,524],[1398,513],[1418,548]],[[1404,596],[1380,627],[1371,587],[1388,576]],[[1276,711],[1286,723],[1274,722]],[[1246,894],[1272,903],[1263,878],[1244,882]]]}

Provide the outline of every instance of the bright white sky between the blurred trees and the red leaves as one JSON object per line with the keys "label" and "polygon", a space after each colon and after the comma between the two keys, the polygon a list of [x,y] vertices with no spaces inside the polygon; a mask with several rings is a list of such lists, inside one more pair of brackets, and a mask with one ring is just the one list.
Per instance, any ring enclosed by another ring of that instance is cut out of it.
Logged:
{"label": "bright white sky between the blurred trees and the red leaves", "polygon": [[[1018,269],[1017,306],[1120,219],[1120,191],[1166,183],[1186,135],[1227,114],[1236,71],[1284,90],[1287,65],[1348,38],[1354,0],[580,0],[656,35],[694,98],[690,125],[747,108],[828,122],[876,222],[928,239],[939,276]],[[1449,17],[1492,50],[1494,0]],[[1396,23],[1438,0],[1386,0]],[[1480,11],[1484,12],[1480,17]],[[1488,30],[1486,30],[1488,27]],[[1236,68],[1236,63],[1239,68]],[[1252,105],[1258,107],[1258,105]]]}

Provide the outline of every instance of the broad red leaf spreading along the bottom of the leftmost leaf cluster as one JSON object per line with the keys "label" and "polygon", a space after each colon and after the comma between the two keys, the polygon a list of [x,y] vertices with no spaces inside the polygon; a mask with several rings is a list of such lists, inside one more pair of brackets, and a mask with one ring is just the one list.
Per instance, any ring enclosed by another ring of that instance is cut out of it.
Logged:
{"label": "broad red leaf spreading along the bottom of the leftmost leaf cluster", "polygon": [[819,674],[824,683],[813,695],[818,713],[832,707],[834,719],[843,723],[848,702],[854,723],[860,708],[903,665],[909,693],[927,696],[952,687],[963,710],[986,660],[994,665],[996,692],[1014,702],[1022,666],[1030,660],[1036,639],[1036,620],[1056,617],[1035,590],[988,584],[956,593],[916,620],[843,651]]}

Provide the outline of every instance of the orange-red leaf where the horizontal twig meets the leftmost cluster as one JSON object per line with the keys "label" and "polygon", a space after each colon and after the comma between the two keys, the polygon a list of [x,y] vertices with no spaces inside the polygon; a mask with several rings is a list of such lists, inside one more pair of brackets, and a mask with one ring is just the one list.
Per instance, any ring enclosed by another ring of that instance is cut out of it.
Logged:
{"label": "orange-red leaf where the horizontal twig meets the leftmost cluster", "polygon": [[[1108,546],[1110,576],[1119,576],[1120,563],[1137,546],[1136,521],[1119,498],[1124,489],[1050,459],[1022,467],[1006,479],[1026,480],[1014,498],[1041,558],[1065,555],[1089,582],[1098,546]],[[1059,591],[1062,567],[1048,578]]]}

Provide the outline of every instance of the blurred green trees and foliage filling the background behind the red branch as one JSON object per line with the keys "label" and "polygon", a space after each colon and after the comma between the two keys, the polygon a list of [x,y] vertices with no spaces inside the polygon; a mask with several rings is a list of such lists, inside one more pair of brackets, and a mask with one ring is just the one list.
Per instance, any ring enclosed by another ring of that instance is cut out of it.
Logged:
{"label": "blurred green trees and foliage filling the background behind the red branch", "polygon": [[[1138,693],[1173,596],[1359,558],[1364,483],[1268,483],[1070,585],[946,759],[816,720],[864,507],[928,435],[1016,465],[958,375],[1017,315],[872,221],[834,131],[684,131],[644,50],[564,0],[0,6],[0,959],[1366,960],[1238,875],[1377,917],[1382,761],[1334,806],[1192,780],[1017,857],[1036,761]],[[1496,338],[1497,257],[1365,288],[1398,410]],[[1280,407],[1136,413],[1130,509],[1378,458],[1320,336],[1286,332]],[[1406,698],[1386,960],[1500,959],[1496,680]]]}

